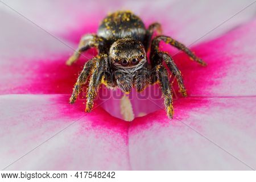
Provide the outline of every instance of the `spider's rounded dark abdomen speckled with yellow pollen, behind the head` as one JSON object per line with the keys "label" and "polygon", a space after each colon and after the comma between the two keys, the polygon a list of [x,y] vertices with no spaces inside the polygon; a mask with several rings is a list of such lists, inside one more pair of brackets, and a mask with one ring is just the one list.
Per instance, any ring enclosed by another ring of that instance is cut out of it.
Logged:
{"label": "spider's rounded dark abdomen speckled with yellow pollen, behind the head", "polygon": [[97,35],[105,38],[109,45],[122,38],[144,43],[146,28],[142,20],[130,11],[117,11],[102,20]]}

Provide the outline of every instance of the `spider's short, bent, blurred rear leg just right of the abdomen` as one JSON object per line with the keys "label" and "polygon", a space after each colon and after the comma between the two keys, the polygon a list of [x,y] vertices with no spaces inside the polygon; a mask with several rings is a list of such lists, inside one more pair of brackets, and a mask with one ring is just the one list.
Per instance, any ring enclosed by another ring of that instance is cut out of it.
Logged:
{"label": "spider's short, bent, blurred rear leg just right of the abdomen", "polygon": [[146,52],[150,48],[151,39],[155,31],[156,31],[156,35],[162,34],[162,27],[161,27],[161,24],[158,22],[150,24],[150,26],[148,26],[146,30],[146,38],[145,38]]}

